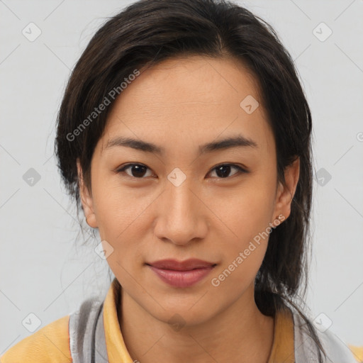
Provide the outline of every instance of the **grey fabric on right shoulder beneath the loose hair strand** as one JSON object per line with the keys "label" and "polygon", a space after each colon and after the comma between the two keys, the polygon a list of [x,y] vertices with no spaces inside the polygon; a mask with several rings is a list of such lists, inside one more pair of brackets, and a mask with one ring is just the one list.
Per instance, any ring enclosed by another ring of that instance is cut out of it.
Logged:
{"label": "grey fabric on right shoulder beneath the loose hair strand", "polygon": [[[294,348],[296,363],[318,362],[318,348],[311,337],[306,321],[298,313],[294,317]],[[311,325],[313,321],[309,319]],[[313,325],[321,345],[325,350],[326,362],[331,363],[357,363],[348,345],[338,337],[334,330],[323,325]],[[310,359],[310,361],[309,361]],[[315,360],[314,360],[315,359]]]}

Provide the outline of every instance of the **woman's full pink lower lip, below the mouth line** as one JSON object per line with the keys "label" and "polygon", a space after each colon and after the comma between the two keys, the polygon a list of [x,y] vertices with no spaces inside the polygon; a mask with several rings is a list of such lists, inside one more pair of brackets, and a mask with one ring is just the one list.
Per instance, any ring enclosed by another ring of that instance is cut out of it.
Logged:
{"label": "woman's full pink lower lip, below the mouth line", "polygon": [[189,271],[176,271],[172,269],[157,269],[150,266],[155,274],[157,274],[162,281],[174,287],[188,287],[196,284],[206,277],[213,269],[211,267],[203,267],[201,269],[191,269]]}

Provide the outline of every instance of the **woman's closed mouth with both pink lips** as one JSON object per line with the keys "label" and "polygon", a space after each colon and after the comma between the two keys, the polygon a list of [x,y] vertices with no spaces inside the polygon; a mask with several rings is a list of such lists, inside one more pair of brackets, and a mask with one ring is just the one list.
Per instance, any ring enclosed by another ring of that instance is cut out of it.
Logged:
{"label": "woman's closed mouth with both pink lips", "polygon": [[217,264],[201,259],[187,259],[186,261],[163,259],[146,265],[164,283],[184,288],[203,280]]}

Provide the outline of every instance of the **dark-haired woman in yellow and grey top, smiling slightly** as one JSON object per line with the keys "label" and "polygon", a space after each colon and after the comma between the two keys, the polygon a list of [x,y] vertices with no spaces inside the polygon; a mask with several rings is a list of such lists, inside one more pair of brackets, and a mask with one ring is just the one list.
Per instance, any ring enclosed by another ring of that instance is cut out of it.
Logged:
{"label": "dark-haired woman in yellow and grey top, smiling slightly", "polygon": [[115,279],[1,362],[354,362],[298,306],[311,127],[291,57],[241,6],[141,0],[107,21],[55,146]]}

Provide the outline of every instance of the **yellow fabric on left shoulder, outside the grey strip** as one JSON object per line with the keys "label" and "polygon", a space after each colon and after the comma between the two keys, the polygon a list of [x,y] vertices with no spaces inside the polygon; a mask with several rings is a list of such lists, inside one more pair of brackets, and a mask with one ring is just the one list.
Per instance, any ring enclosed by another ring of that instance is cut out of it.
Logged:
{"label": "yellow fabric on left shoulder, outside the grey strip", "polygon": [[1,363],[71,363],[69,315],[45,325],[7,350]]}

